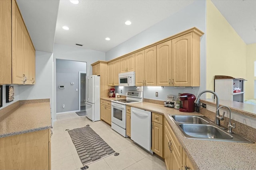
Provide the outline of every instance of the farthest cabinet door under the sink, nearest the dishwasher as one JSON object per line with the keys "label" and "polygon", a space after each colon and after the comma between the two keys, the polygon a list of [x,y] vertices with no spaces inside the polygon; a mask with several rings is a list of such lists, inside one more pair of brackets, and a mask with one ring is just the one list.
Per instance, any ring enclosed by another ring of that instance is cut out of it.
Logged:
{"label": "farthest cabinet door under the sink, nearest the dishwasher", "polygon": [[171,138],[165,126],[164,127],[164,162],[167,170],[170,170],[170,165],[171,165],[171,151],[168,146],[170,141],[171,141]]}

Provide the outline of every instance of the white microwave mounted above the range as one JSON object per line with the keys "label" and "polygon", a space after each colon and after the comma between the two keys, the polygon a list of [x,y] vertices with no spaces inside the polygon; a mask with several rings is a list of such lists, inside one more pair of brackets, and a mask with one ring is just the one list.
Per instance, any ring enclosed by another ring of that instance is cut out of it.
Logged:
{"label": "white microwave mounted above the range", "polygon": [[118,74],[119,86],[135,86],[135,72],[124,72]]}

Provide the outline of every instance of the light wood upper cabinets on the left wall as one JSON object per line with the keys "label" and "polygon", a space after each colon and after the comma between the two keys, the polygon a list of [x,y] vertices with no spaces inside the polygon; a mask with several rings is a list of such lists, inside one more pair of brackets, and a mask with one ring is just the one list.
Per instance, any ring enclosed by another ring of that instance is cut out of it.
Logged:
{"label": "light wood upper cabinets on the left wall", "polygon": [[0,8],[0,84],[34,84],[35,49],[16,1]]}

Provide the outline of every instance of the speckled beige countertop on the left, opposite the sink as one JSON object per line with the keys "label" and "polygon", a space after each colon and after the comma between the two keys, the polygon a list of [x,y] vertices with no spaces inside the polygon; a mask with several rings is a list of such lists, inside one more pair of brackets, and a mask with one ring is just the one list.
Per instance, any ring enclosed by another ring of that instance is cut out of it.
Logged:
{"label": "speckled beige countertop on the left, opposite the sink", "polygon": [[6,113],[0,110],[0,138],[52,127],[50,102],[21,103]]}

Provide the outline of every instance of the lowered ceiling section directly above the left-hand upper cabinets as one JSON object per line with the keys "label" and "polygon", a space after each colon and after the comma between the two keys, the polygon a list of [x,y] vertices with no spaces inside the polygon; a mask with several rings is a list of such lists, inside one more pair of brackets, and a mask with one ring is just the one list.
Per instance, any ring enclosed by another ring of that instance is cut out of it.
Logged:
{"label": "lowered ceiling section directly above the left-hand upper cabinets", "polygon": [[17,0],[36,51],[52,53],[59,0]]}

